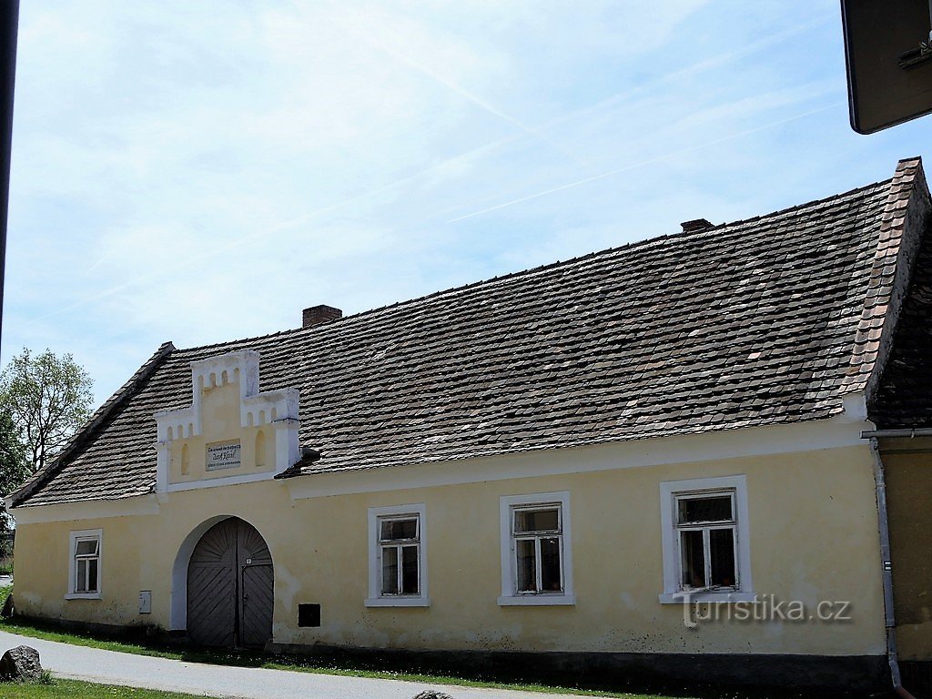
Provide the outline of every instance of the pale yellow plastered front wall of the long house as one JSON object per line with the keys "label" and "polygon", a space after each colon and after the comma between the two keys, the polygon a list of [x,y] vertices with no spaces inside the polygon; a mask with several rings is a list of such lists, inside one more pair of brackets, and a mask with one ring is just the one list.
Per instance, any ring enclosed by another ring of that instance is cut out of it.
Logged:
{"label": "pale yellow plastered front wall of the long house", "polygon": [[[584,460],[587,450],[561,453],[571,465]],[[506,457],[495,459],[502,468],[510,462]],[[469,469],[471,463],[444,467]],[[747,474],[755,592],[801,600],[808,611],[821,600],[847,601],[851,621],[722,621],[691,630],[684,627],[678,605],[659,603],[659,484],[738,473]],[[500,607],[500,496],[559,490],[570,493],[576,605]],[[418,502],[426,504],[432,605],[367,609],[367,509]],[[279,643],[527,651],[884,652],[878,528],[866,445],[306,500],[292,500],[284,481],[173,492],[155,515],[21,525],[16,541],[17,608],[76,621],[168,627],[174,557],[192,529],[223,514],[242,517],[266,538],[275,564],[273,633]],[[78,528],[103,528],[99,601],[63,599],[68,534]],[[151,615],[137,613],[140,590],[153,591]],[[321,628],[296,627],[297,604],[302,602],[322,605]]]}

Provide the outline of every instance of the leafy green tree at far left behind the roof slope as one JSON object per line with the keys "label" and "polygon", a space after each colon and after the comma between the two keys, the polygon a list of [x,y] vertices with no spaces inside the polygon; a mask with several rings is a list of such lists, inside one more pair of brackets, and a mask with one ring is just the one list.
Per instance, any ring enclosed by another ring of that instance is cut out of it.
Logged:
{"label": "leafy green tree at far left behind the roof slope", "polygon": [[12,418],[35,472],[90,417],[91,381],[70,354],[23,349],[0,375],[0,405]]}

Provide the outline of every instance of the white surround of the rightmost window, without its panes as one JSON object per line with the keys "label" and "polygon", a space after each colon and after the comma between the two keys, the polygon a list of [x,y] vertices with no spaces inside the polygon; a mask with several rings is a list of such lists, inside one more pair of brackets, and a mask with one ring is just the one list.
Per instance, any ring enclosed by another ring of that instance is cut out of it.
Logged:
{"label": "white surround of the rightmost window, without its panes", "polygon": [[[737,585],[725,590],[684,590],[680,583],[680,556],[677,527],[677,500],[703,495],[731,494],[733,497],[734,567]],[[747,476],[727,475],[685,481],[665,481],[660,484],[660,516],[664,548],[664,592],[662,604],[683,602],[751,602],[754,583],[751,580],[750,527],[747,511]]]}

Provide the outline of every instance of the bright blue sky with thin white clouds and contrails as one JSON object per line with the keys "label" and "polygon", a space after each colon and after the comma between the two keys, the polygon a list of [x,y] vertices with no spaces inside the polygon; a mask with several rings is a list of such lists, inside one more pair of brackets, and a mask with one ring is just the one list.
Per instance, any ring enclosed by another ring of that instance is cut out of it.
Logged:
{"label": "bright blue sky with thin white clouds and contrails", "polygon": [[98,403],[299,327],[886,179],[837,0],[21,0],[0,363]]}

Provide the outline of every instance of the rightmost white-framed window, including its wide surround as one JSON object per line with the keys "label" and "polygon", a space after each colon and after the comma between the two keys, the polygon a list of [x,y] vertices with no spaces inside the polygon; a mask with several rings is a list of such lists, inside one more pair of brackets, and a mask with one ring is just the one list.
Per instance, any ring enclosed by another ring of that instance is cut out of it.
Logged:
{"label": "rightmost white-framed window, including its wide surround", "polygon": [[742,601],[750,583],[745,476],[661,484],[663,602]]}

